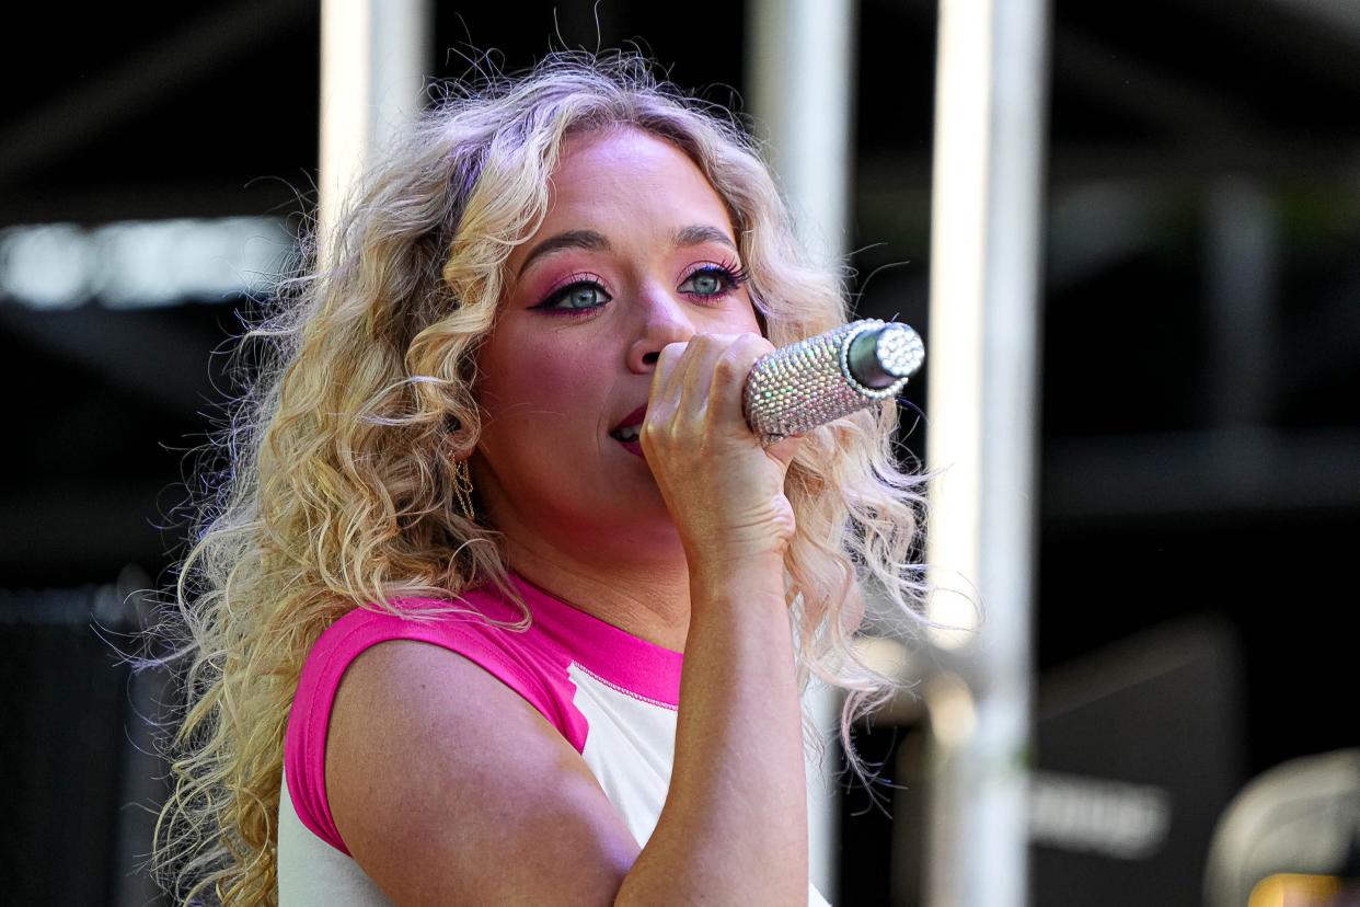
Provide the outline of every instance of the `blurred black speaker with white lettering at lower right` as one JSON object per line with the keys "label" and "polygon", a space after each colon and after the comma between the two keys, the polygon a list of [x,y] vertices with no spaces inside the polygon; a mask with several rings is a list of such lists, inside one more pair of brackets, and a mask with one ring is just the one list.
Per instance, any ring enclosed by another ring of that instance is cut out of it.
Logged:
{"label": "blurred black speaker with white lettering at lower right", "polygon": [[1031,778],[1031,903],[1202,903],[1209,843],[1243,779],[1238,643],[1176,623],[1051,672]]}

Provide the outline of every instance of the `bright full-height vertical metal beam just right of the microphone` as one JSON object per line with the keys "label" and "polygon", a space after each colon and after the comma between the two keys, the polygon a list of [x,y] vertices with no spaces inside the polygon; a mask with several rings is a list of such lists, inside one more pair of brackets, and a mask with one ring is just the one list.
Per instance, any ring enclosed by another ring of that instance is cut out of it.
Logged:
{"label": "bright full-height vertical metal beam just right of the microphone", "polygon": [[926,684],[936,907],[1027,893],[1046,31],[1044,0],[940,4],[926,562],[930,616],[966,632],[933,634]]}

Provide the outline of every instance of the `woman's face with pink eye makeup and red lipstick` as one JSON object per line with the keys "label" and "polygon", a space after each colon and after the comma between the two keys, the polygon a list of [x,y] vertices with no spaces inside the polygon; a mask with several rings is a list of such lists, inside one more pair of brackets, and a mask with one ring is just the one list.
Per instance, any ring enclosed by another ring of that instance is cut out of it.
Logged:
{"label": "woman's face with pink eye makeup and red lipstick", "polygon": [[472,479],[498,529],[539,555],[680,552],[646,460],[609,432],[647,403],[666,344],[760,333],[736,239],[668,141],[636,129],[567,140],[479,352],[487,417]]}

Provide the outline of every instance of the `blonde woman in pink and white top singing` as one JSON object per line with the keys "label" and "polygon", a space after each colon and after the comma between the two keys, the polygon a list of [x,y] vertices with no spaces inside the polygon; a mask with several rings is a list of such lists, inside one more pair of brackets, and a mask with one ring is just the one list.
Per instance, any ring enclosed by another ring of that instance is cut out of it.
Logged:
{"label": "blonde woman in pink and white top singing", "polygon": [[861,771],[861,585],[915,613],[919,479],[892,405],[745,427],[752,363],[847,305],[741,131],[559,54],[428,114],[326,242],[181,566],[177,895],[824,903],[798,695],[851,692]]}

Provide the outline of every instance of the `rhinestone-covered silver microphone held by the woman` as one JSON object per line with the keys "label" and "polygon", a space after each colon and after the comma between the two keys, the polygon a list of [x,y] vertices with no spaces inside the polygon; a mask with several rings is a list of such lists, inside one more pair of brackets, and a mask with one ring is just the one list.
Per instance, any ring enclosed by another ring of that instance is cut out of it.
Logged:
{"label": "rhinestone-covered silver microphone held by the woman", "polygon": [[747,375],[743,413],[770,445],[892,400],[926,358],[921,335],[864,318],[782,347]]}

